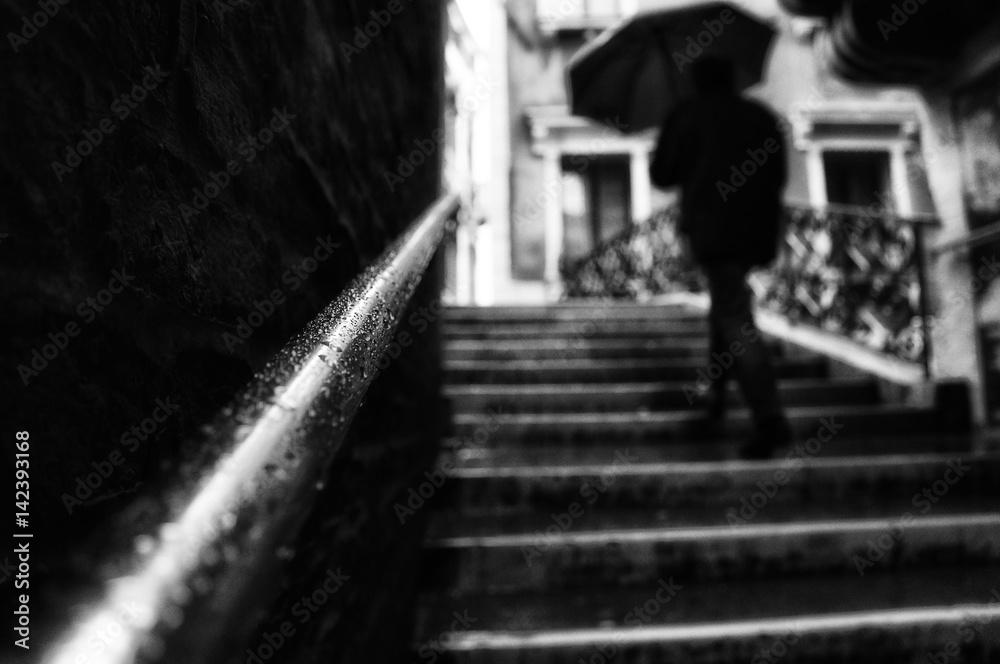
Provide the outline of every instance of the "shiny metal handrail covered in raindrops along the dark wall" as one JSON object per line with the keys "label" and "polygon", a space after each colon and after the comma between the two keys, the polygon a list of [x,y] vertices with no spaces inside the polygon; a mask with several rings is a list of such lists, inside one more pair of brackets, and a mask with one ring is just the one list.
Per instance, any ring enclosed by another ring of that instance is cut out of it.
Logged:
{"label": "shiny metal handrail covered in raindrops along the dark wall", "polygon": [[158,494],[157,527],[102,561],[100,598],[44,661],[81,661],[123,607],[102,664],[215,662],[242,643],[458,206],[438,200],[205,428],[208,457]]}

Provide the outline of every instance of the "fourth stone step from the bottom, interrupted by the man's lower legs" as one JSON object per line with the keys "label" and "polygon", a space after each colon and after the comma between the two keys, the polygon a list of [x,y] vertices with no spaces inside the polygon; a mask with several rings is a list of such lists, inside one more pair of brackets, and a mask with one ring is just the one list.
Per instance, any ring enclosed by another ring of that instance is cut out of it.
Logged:
{"label": "fourth stone step from the bottom, interrupted by the man's lower legs", "polygon": [[[928,408],[897,405],[799,407],[786,410],[795,440],[804,444],[817,438],[837,449],[836,438],[850,435],[944,432],[946,423]],[[463,414],[453,417],[459,440],[484,439],[491,447],[538,443],[572,443],[618,446],[639,442],[671,443],[694,439],[746,437],[753,430],[747,410],[727,414],[723,422],[710,422],[703,413],[690,411],[605,413]],[[477,433],[478,432],[478,433]]]}

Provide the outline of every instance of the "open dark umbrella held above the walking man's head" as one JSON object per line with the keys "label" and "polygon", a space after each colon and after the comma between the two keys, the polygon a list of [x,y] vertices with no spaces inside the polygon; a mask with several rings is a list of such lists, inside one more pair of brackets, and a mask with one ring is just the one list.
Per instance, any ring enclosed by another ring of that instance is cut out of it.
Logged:
{"label": "open dark umbrella held above the walking man's head", "polygon": [[726,2],[636,14],[604,31],[567,67],[571,110],[634,133],[658,127],[694,92],[691,65],[707,55],[736,67],[740,90],[759,83],[776,31]]}

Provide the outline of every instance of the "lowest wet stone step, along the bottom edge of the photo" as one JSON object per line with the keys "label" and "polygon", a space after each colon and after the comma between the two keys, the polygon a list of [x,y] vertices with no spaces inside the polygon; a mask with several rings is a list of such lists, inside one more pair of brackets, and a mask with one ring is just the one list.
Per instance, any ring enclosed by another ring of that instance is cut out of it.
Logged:
{"label": "lowest wet stone step, along the bottom edge of the photo", "polygon": [[468,664],[1000,661],[1000,568],[869,570],[611,591],[431,595],[414,653]]}

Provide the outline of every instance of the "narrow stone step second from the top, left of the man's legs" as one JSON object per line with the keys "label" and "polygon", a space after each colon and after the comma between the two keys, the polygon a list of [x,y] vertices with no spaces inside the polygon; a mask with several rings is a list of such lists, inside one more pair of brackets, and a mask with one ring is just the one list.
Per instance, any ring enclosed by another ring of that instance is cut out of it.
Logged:
{"label": "narrow stone step second from the top, left of the man's legs", "polygon": [[702,318],[665,320],[597,320],[449,323],[445,339],[577,339],[592,338],[689,338],[705,339],[708,321]]}

